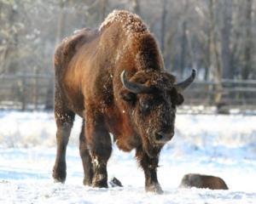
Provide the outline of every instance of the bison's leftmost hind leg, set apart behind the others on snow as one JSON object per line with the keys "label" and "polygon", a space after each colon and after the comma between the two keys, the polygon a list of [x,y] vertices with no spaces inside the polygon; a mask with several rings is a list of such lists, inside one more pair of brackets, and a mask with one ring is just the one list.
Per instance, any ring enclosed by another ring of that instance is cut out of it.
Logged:
{"label": "bison's leftmost hind leg, set apart behind the others on snow", "polygon": [[55,122],[57,125],[57,153],[52,176],[56,182],[64,183],[66,180],[66,150],[67,143],[73,127],[75,114],[63,106],[55,106]]}

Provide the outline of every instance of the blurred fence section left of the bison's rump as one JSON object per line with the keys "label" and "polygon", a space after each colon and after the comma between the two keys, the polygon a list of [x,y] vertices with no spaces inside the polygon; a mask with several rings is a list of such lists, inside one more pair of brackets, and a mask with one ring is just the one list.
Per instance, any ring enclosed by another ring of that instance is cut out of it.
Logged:
{"label": "blurred fence section left of the bison's rump", "polygon": [[50,75],[0,76],[0,109],[53,109],[54,78]]}

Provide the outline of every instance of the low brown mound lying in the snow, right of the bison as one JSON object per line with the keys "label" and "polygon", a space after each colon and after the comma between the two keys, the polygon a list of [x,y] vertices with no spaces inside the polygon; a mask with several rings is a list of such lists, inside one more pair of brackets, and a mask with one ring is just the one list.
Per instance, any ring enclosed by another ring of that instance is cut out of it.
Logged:
{"label": "low brown mound lying in the snow, right of the bison", "polygon": [[201,175],[197,173],[189,173],[183,176],[180,187],[196,187],[211,190],[228,190],[224,180],[215,176]]}

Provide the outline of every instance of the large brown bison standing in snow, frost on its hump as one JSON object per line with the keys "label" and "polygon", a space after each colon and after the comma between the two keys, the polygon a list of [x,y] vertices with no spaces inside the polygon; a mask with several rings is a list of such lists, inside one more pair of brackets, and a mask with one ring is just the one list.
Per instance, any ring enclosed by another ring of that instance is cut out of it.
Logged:
{"label": "large brown bison standing in snow, frost on its hump", "polygon": [[172,139],[181,92],[194,78],[195,71],[175,83],[148,27],[127,11],[113,11],[97,31],[85,28],[64,39],[55,51],[55,180],[65,181],[67,142],[78,114],[84,118],[84,184],[108,187],[112,133],[119,149],[136,149],[146,190],[161,193],[160,150]]}

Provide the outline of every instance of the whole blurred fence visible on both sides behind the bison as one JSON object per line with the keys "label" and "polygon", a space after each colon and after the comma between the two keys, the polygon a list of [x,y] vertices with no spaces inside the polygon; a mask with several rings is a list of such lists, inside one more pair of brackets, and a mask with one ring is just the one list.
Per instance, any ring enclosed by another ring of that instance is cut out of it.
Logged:
{"label": "whole blurred fence visible on both sides behind the bison", "polygon": [[[193,82],[184,93],[184,105],[215,106],[219,113],[239,108],[256,110],[256,80],[223,79]],[[0,109],[51,110],[54,102],[52,75],[0,76]]]}

